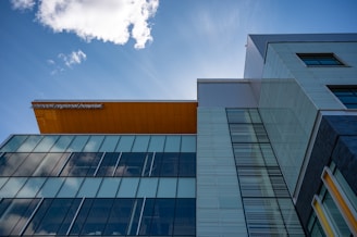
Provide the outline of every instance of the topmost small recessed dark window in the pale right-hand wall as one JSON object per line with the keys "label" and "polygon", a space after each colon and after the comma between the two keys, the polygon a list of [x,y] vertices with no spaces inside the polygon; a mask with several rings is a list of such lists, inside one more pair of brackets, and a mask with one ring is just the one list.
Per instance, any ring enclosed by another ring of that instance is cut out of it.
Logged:
{"label": "topmost small recessed dark window in the pale right-hand wall", "polygon": [[344,65],[333,53],[297,53],[307,66],[342,66]]}

